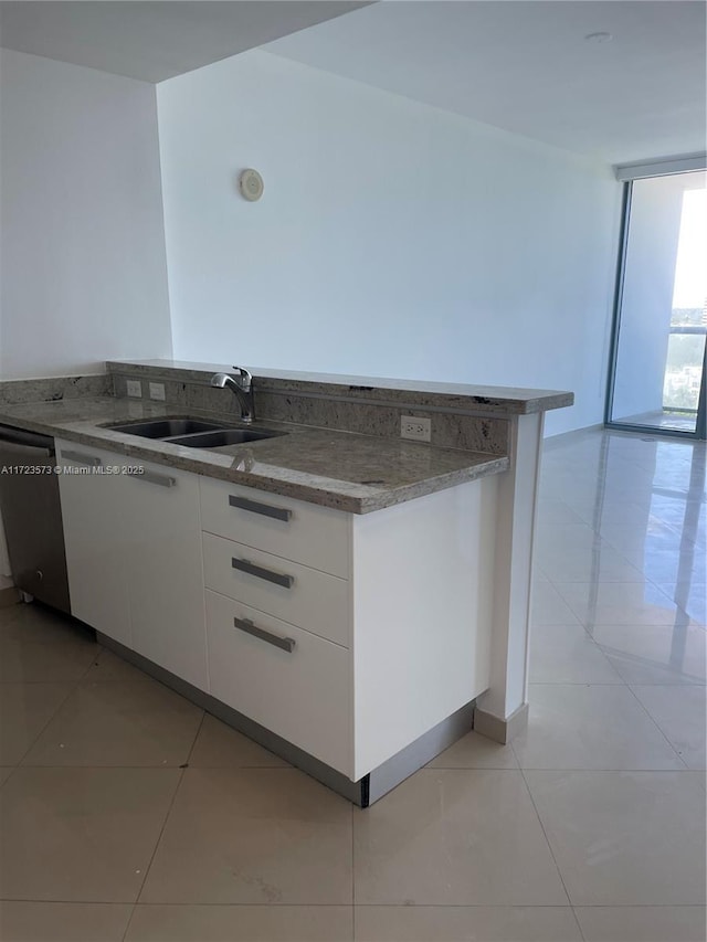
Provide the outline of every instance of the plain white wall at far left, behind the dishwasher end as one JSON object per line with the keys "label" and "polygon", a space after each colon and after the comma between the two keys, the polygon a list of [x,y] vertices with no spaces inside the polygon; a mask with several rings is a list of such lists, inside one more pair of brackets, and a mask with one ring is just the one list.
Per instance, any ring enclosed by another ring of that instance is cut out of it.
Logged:
{"label": "plain white wall at far left, behind the dishwasher end", "polygon": [[2,50],[0,377],[171,356],[155,86]]}

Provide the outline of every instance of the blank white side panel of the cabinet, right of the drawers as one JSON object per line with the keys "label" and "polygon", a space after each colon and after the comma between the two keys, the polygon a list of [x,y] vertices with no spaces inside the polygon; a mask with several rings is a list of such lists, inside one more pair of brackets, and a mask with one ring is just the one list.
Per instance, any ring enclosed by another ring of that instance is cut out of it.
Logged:
{"label": "blank white side panel of the cabinet, right of the drawers", "polygon": [[499,477],[354,518],[355,780],[489,685]]}

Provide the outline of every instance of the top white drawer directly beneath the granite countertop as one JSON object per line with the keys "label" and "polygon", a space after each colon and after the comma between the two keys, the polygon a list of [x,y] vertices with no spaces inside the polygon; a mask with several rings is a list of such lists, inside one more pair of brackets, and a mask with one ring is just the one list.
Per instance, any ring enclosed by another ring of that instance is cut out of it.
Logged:
{"label": "top white drawer directly beneath the granite countertop", "polygon": [[348,578],[350,515],[253,487],[201,479],[204,530]]}

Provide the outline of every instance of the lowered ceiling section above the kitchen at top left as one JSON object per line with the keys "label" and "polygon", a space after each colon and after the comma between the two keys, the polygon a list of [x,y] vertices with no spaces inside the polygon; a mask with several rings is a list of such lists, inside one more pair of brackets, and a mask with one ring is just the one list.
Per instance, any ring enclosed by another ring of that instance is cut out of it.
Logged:
{"label": "lowered ceiling section above the kitchen at top left", "polygon": [[365,6],[342,0],[2,0],[0,44],[162,82]]}

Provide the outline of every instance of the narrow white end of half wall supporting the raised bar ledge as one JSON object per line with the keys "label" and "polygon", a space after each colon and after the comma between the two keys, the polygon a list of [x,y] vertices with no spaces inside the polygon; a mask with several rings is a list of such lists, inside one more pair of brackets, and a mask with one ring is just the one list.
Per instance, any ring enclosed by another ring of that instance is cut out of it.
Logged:
{"label": "narrow white end of half wall supporting the raised bar ledge", "polygon": [[513,420],[510,468],[498,478],[490,687],[474,728],[508,742],[527,723],[532,547],[545,413]]}

